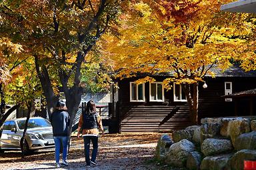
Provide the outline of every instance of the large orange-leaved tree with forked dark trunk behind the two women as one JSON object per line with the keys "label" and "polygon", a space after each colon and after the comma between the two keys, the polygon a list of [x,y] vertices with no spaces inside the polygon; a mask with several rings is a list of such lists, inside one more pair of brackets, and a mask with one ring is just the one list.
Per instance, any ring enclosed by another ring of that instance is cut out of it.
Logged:
{"label": "large orange-leaved tree with forked dark trunk behind the two women", "polygon": [[0,33],[20,43],[24,54],[34,57],[49,115],[61,87],[73,122],[83,92],[81,68],[99,37],[115,29],[119,3],[119,0],[1,1],[4,24]]}

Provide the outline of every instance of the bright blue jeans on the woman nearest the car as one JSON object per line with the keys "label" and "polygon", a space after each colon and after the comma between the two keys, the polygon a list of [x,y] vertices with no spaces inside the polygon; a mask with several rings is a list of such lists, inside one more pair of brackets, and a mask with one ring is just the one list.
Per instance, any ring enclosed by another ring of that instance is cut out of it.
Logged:
{"label": "bright blue jeans on the woman nearest the car", "polygon": [[55,142],[55,160],[56,163],[59,163],[59,153],[61,150],[61,143],[63,145],[63,151],[62,151],[62,161],[67,160],[67,136],[57,136],[53,137]]}

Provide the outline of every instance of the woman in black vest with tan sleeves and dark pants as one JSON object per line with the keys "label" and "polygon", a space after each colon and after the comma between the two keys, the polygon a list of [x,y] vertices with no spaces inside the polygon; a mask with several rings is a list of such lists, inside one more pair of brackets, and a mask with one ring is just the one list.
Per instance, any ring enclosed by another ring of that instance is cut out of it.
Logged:
{"label": "woman in black vest with tan sleeves and dark pants", "polygon": [[[83,129],[82,136],[85,144],[85,161],[87,167],[91,164],[97,165],[96,157],[98,152],[98,135],[99,130],[104,135],[102,121],[100,115],[96,112],[94,101],[87,102],[85,112],[80,116],[78,123],[77,137],[80,136],[80,130]],[[99,130],[98,130],[99,129]],[[93,152],[90,159],[90,141],[93,143]]]}

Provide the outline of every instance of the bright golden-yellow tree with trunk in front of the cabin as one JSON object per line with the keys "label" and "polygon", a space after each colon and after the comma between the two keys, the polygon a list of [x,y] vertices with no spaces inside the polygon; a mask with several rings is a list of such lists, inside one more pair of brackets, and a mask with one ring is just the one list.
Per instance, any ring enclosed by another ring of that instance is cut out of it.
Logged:
{"label": "bright golden-yellow tree with trunk in front of the cabin", "polygon": [[[198,119],[198,85],[214,67],[227,69],[251,33],[246,14],[221,13],[227,1],[140,1],[123,14],[117,37],[105,35],[106,54],[117,61],[118,77],[136,73],[174,73],[163,81],[181,84],[191,122]],[[155,81],[145,77],[138,83]]]}

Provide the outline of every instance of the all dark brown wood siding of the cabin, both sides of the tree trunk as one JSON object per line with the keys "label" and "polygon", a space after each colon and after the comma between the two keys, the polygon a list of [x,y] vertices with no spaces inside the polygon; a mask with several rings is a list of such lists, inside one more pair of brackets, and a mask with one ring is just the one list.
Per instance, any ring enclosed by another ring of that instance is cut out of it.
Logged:
{"label": "all dark brown wood siding of the cabin, both sides of the tree trunk", "polygon": [[[165,77],[156,77],[163,81]],[[138,78],[123,79],[119,81],[119,101],[117,111],[119,114],[121,133],[163,132],[183,129],[191,124],[189,121],[189,108],[187,102],[174,102],[173,90],[165,91],[164,102],[149,101],[149,83],[145,83],[145,102],[130,102],[129,82]],[[253,89],[256,87],[254,77],[216,77],[206,79],[208,87],[203,89],[199,83],[199,120],[204,117],[227,117],[235,115],[235,101],[227,102],[221,96],[225,95],[225,81],[232,82],[233,93]],[[255,100],[256,101],[256,100]],[[247,99],[239,99],[241,108],[239,115],[248,115]],[[255,103],[256,104],[256,103]],[[160,125],[161,121],[179,107],[171,118]],[[243,108],[246,107],[247,109]],[[256,111],[256,109],[255,109]],[[256,115],[256,113],[255,113]]]}

